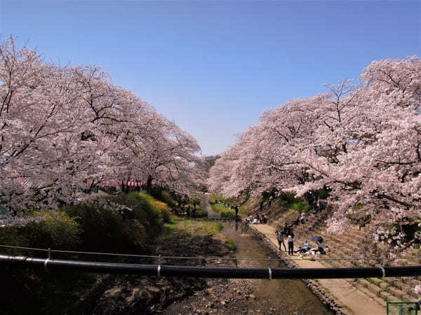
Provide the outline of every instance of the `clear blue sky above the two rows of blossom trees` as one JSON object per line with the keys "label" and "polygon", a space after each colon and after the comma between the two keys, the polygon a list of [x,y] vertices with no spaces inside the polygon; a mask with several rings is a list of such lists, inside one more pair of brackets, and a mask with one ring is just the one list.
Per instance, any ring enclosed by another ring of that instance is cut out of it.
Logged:
{"label": "clear blue sky above the two rows of blossom trees", "polygon": [[97,64],[220,153],[260,113],[420,55],[421,1],[4,1],[0,34]]}

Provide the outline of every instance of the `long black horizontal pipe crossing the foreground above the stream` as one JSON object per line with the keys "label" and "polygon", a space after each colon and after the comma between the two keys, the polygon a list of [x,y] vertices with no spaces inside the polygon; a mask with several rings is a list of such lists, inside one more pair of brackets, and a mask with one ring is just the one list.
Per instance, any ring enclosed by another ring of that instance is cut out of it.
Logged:
{"label": "long black horizontal pipe crossing the foreground above the stream", "polygon": [[14,265],[48,271],[78,270],[102,274],[140,274],[146,276],[182,276],[198,278],[242,279],[341,279],[380,278],[382,276],[420,276],[421,266],[367,268],[235,268],[171,265],[140,265],[79,260],[53,260],[0,255],[0,265]]}

